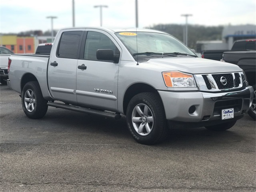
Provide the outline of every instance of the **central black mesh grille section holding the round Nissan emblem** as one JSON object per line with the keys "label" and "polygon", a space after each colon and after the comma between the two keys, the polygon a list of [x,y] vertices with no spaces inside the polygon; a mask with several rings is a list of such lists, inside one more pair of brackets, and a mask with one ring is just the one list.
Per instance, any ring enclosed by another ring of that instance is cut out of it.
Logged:
{"label": "central black mesh grille section holding the round Nissan emblem", "polygon": [[[234,87],[233,75],[231,73],[226,74],[212,74],[219,89],[230,89]],[[221,82],[221,80],[226,80],[226,82]]]}

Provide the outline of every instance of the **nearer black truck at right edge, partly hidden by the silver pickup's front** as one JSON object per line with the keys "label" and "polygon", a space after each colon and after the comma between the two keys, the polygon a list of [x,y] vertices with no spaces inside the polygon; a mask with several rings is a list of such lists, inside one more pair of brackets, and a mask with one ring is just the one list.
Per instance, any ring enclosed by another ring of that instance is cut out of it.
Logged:
{"label": "nearer black truck at right edge, partly hidden by the silver pickup's front", "polygon": [[254,88],[254,99],[248,114],[256,119],[256,51],[245,52],[224,52],[222,56],[223,62],[238,65],[244,70],[248,83]]}

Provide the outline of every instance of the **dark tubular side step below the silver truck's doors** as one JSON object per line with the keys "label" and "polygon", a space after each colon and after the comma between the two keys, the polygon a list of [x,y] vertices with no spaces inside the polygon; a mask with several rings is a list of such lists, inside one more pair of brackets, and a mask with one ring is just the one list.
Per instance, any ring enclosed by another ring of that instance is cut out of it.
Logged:
{"label": "dark tubular side step below the silver truck's doors", "polygon": [[108,117],[108,118],[114,118],[115,120],[121,118],[120,114],[114,114],[114,113],[110,113],[110,112],[106,112],[106,111],[89,109],[89,108],[85,108],[85,107],[78,107],[78,106],[73,106],[73,105],[68,105],[68,104],[48,102],[47,105],[56,107],[56,108],[67,109],[67,110],[71,110],[71,111],[77,111],[77,112],[82,112],[82,113],[87,113],[87,114],[104,116],[104,117]]}

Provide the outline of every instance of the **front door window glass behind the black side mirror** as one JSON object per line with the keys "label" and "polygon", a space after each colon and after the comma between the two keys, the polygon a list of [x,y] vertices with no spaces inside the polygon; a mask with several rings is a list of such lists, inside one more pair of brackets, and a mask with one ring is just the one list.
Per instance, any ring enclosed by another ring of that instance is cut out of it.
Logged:
{"label": "front door window glass behind the black side mirror", "polygon": [[120,54],[118,48],[108,36],[99,32],[89,31],[84,48],[84,59],[97,60],[96,51],[98,49],[112,49],[114,54]]}

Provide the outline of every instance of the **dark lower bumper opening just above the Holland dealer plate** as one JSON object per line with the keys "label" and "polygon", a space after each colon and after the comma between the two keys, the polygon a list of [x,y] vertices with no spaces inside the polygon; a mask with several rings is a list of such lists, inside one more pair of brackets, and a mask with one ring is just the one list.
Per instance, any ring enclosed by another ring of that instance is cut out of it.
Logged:
{"label": "dark lower bumper opening just above the Holland dealer plate", "polygon": [[221,115],[221,110],[234,108],[234,112],[239,112],[242,108],[242,99],[232,99],[217,101],[214,105],[213,115]]}

